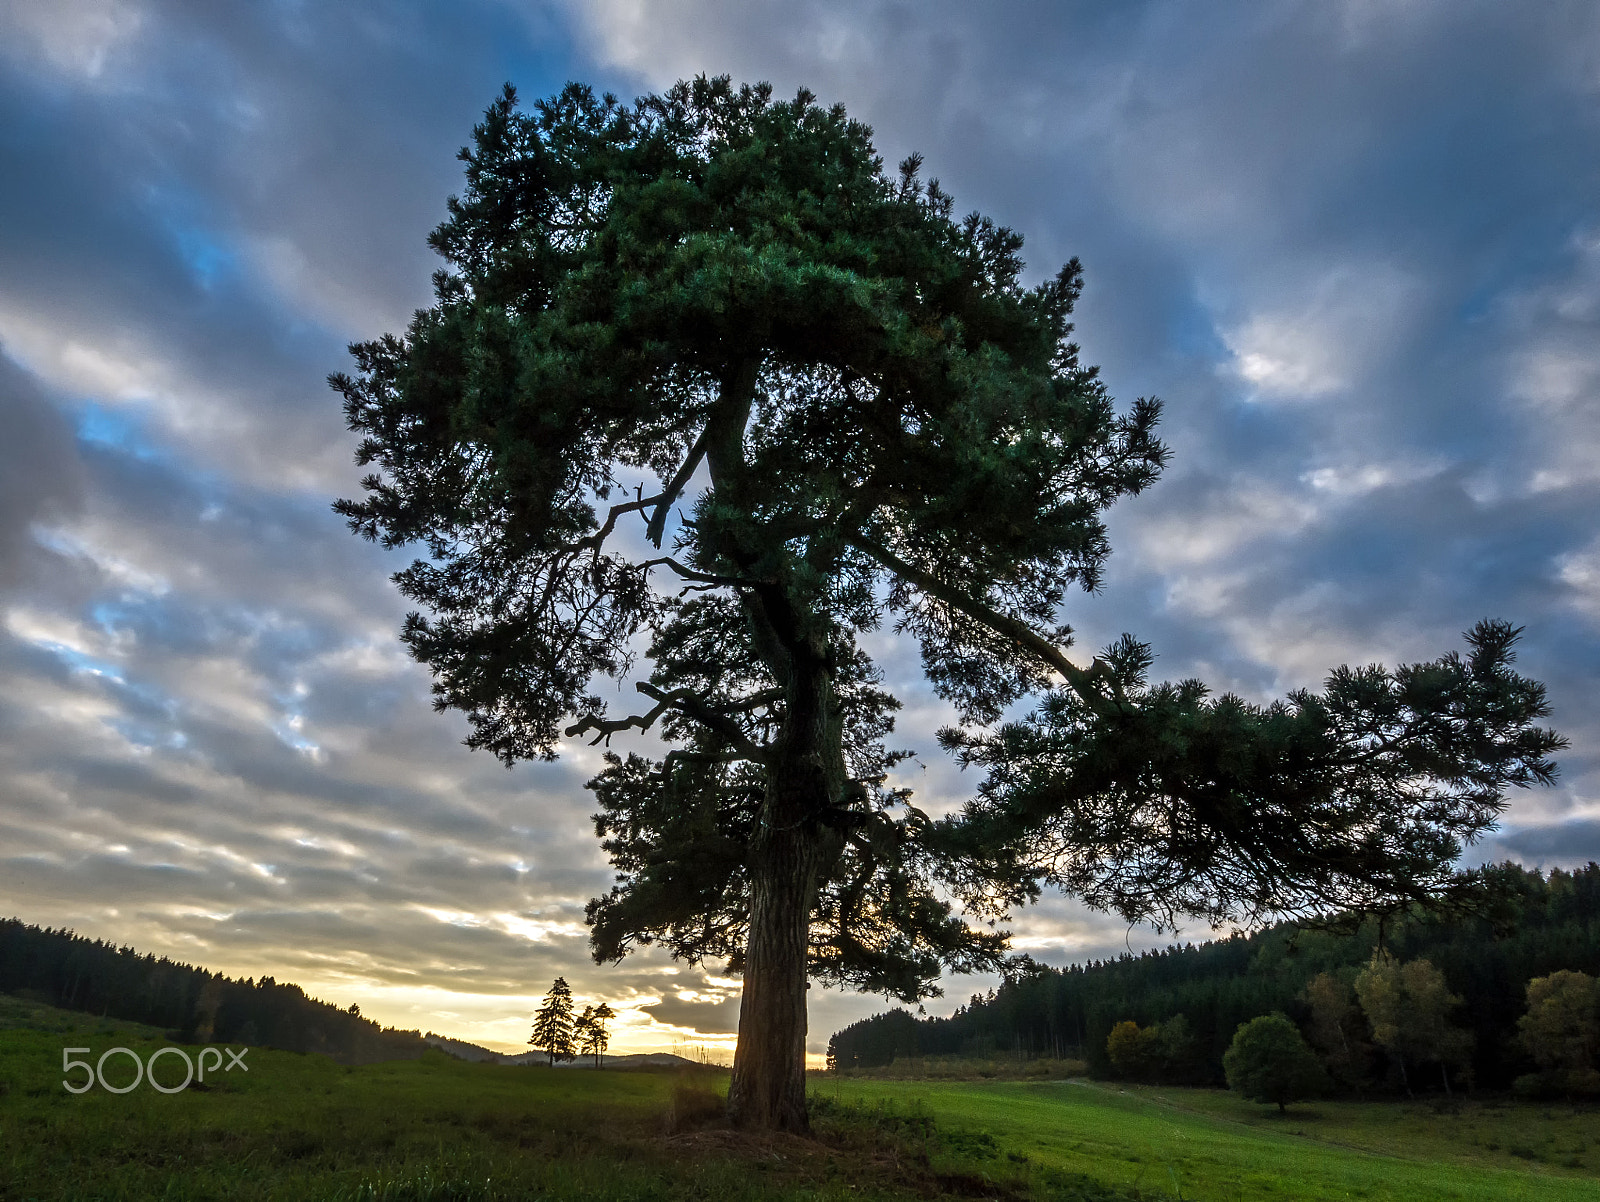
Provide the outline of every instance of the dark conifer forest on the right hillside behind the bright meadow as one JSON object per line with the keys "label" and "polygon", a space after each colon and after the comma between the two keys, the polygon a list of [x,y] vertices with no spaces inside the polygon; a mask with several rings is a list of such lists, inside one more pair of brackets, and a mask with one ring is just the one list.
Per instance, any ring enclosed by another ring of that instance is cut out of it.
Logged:
{"label": "dark conifer forest on the right hillside behind the bright meadow", "polygon": [[[1528,983],[1563,970],[1600,976],[1600,864],[1547,874],[1504,864],[1494,872],[1509,899],[1493,920],[1414,917],[1342,930],[1285,924],[1069,968],[1024,960],[998,989],[974,994],[949,1018],[896,1008],[838,1031],[829,1064],[1077,1058],[1101,1077],[1222,1085],[1222,1053],[1238,1026],[1282,1012],[1347,1092],[1531,1082],[1538,1066],[1518,1039]],[[1403,1039],[1389,1031],[1374,1037],[1360,991],[1373,1010],[1374,967],[1394,965],[1398,978],[1422,960],[1443,978],[1434,1018],[1422,1015],[1440,1040],[1411,1055],[1406,1076]]]}

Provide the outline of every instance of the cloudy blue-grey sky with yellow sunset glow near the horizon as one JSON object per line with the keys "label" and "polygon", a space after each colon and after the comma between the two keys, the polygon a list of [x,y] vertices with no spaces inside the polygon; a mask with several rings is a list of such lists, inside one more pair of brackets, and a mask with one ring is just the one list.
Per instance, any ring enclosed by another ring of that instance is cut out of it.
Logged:
{"label": "cloudy blue-grey sky with yellow sunset glow near the horizon", "polygon": [[[1085,645],[1266,699],[1525,624],[1573,747],[1472,858],[1600,858],[1589,0],[0,0],[0,916],[507,1048],[557,973],[618,1050],[730,1044],[736,981],[587,957],[594,752],[506,771],[430,711],[323,383],[429,303],[502,82],[701,72],[843,101],[1034,277],[1083,259],[1085,355],[1174,450]],[[906,783],[954,803],[885,650]],[[1154,941],[1061,898],[1016,930]],[[882,1008],[813,997],[813,1050]]]}

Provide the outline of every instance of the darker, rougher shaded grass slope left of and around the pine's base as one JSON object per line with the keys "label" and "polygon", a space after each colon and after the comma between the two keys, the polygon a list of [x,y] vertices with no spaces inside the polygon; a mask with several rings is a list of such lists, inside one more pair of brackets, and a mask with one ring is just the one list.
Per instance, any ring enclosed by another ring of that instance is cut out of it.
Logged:
{"label": "darker, rougher shaded grass slope left of and around the pine's base", "polygon": [[[443,1053],[344,1068],[253,1048],[248,1074],[213,1074],[206,1092],[61,1085],[62,1047],[98,1060],[110,1047],[149,1058],[163,1045],[149,1028],[0,997],[0,1199],[942,1196],[939,1178],[901,1164],[894,1138],[870,1124],[835,1122],[826,1143],[718,1130],[714,1088],[725,1074],[554,1072]],[[133,1072],[122,1056],[107,1069],[117,1082]],[[179,1076],[165,1058],[163,1084]],[[672,1119],[685,1111],[688,1122]]]}

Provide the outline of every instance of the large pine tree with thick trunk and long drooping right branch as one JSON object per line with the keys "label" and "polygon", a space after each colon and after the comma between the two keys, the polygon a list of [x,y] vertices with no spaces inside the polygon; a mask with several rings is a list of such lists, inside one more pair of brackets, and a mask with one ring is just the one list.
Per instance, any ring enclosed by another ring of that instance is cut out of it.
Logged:
{"label": "large pine tree with thick trunk and long drooping right branch", "polygon": [[[925,997],[997,967],[987,920],[1048,883],[1130,917],[1427,896],[1549,776],[1504,626],[1266,711],[1149,687],[1133,640],[1069,658],[1058,610],[1166,458],[1158,407],[1080,362],[1075,261],[1024,286],[1016,234],[915,157],[885,174],[842,107],[507,88],[462,158],[437,303],[333,381],[378,469],[339,511],[426,547],[403,639],[470,746],[667,743],[590,783],[619,872],[594,951],[742,973],[734,1119],[805,1127],[808,976]],[[890,784],[885,627],[990,768],[963,816]]]}

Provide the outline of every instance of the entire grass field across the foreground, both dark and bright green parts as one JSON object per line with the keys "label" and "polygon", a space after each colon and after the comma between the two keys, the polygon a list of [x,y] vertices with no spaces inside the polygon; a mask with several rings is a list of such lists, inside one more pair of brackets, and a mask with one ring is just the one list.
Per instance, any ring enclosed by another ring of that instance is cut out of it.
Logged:
{"label": "entire grass field across the foreground, both dark and bright green parts", "polygon": [[1496,1101],[1280,1119],[1206,1090],[819,1077],[819,1138],[795,1140],[725,1130],[720,1076],[443,1055],[254,1048],[205,1092],[61,1085],[62,1047],[163,1042],[0,997],[0,1199],[1600,1199],[1600,1112]]}

